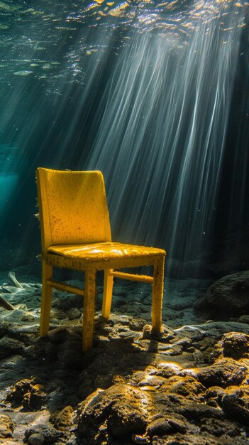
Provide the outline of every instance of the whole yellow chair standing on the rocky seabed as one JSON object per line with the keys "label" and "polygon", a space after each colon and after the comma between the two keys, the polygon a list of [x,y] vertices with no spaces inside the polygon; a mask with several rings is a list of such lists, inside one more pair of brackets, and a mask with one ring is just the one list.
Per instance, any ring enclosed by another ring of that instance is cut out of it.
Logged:
{"label": "whole yellow chair standing on the rocky seabed", "polygon": [[[83,351],[92,348],[96,272],[104,270],[102,316],[109,318],[114,277],[153,284],[152,326],[162,326],[165,250],[111,241],[104,178],[100,171],[37,168],[42,240],[40,336],[48,333],[52,288],[84,296]],[[153,277],[115,269],[153,265]],[[52,267],[84,271],[84,290],[56,282]]]}

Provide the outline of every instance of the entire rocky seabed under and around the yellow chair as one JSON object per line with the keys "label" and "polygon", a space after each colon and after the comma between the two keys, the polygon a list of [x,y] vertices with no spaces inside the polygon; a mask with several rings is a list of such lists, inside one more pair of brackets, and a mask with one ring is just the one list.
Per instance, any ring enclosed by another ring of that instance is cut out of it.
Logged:
{"label": "entire rocky seabed under and around the yellow chair", "polygon": [[150,288],[114,287],[104,321],[99,286],[94,348],[83,354],[81,298],[55,291],[39,338],[40,284],[19,284],[0,289],[0,443],[249,444],[245,313],[198,323],[186,282],[174,298],[170,282],[155,335]]}

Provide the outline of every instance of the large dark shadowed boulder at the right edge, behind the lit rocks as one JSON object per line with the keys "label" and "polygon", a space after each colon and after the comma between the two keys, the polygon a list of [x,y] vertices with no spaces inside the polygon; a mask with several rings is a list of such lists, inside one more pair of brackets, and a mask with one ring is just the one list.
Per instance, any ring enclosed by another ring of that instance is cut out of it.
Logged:
{"label": "large dark shadowed boulder at the right edge, behind the lit rocks", "polygon": [[226,275],[207,289],[194,304],[194,310],[207,311],[212,318],[241,316],[249,312],[249,271]]}

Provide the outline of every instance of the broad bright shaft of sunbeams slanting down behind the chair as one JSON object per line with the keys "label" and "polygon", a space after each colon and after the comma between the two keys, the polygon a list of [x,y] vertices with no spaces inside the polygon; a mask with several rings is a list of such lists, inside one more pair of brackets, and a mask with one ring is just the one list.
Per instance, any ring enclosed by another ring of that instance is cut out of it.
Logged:
{"label": "broad bright shaft of sunbeams slanting down behind the chair", "polygon": [[243,23],[231,8],[196,20],[185,45],[161,30],[133,33],[87,164],[108,179],[118,234],[167,245],[182,261],[197,257],[214,224]]}

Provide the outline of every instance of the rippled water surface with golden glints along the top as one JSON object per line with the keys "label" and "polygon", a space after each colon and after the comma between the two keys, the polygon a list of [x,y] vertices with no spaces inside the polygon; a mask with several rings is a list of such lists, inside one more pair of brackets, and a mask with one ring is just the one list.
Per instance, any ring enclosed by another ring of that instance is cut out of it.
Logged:
{"label": "rippled water surface with golden glints along the top", "polygon": [[[245,26],[240,1],[1,1],[1,76],[84,82],[90,55],[115,54],[134,33],[162,36],[172,50],[189,45],[193,32],[211,33],[214,21],[223,44],[234,28]],[[230,16],[228,18],[228,16]]]}

